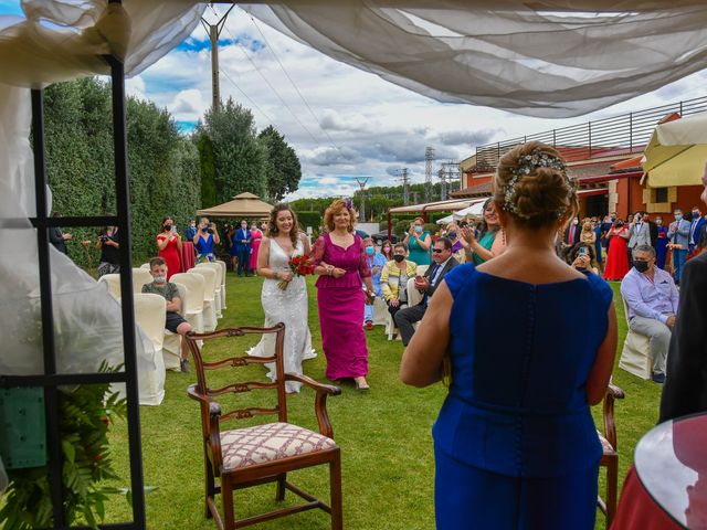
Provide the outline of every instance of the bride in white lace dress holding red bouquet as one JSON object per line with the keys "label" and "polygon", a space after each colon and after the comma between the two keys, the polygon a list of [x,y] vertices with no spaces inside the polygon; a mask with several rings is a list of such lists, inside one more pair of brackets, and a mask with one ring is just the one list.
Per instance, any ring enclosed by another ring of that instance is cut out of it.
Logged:
{"label": "bride in white lace dress holding red bouquet", "polygon": [[[263,276],[261,301],[265,311],[265,327],[278,322],[285,325],[283,363],[285,372],[303,373],[302,361],[316,357],[312,348],[309,332],[307,284],[303,276],[295,276],[289,269],[289,259],[309,254],[309,240],[299,231],[297,216],[287,204],[277,204],[270,215],[267,236],[263,237],[257,253],[257,275]],[[285,290],[277,285],[288,282]],[[247,352],[254,357],[275,354],[275,335],[263,336],[261,341]],[[275,380],[274,363],[267,363],[267,375]],[[299,392],[302,383],[286,381],[287,392]]]}

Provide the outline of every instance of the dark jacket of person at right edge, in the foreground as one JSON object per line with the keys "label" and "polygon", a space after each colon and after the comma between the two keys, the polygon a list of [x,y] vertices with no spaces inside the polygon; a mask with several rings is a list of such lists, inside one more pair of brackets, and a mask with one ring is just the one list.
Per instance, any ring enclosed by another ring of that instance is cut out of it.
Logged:
{"label": "dark jacket of person at right edge, in the foreground", "polygon": [[707,412],[707,254],[685,264],[671,338],[661,422]]}

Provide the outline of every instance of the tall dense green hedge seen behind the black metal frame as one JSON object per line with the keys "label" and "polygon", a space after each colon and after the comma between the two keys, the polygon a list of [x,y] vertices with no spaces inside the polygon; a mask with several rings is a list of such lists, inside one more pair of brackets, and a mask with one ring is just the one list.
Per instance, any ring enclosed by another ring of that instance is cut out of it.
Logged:
{"label": "tall dense green hedge seen behind the black metal frame", "polygon": [[[166,109],[128,98],[126,105],[133,253],[157,253],[165,215],[180,232],[201,205],[199,153]],[[96,78],[56,83],[45,91],[46,170],[53,210],[62,215],[115,214],[110,87]],[[97,229],[71,229],[68,254],[96,266]],[[87,246],[81,241],[91,241]]]}

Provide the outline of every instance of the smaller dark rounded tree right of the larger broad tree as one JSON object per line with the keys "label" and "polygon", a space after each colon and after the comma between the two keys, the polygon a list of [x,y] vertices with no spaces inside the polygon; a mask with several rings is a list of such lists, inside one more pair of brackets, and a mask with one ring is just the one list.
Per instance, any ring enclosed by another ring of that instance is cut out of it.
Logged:
{"label": "smaller dark rounded tree right of the larger broad tree", "polygon": [[272,125],[263,129],[258,138],[267,149],[267,198],[279,201],[297,190],[302,166],[295,150]]}

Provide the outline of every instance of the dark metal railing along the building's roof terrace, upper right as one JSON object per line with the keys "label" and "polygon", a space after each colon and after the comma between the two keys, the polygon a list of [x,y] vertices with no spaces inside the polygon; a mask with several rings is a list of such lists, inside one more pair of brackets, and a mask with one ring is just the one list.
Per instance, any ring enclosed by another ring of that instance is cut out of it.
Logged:
{"label": "dark metal railing along the building's roof terrace, upper right", "polygon": [[568,161],[637,155],[643,152],[655,126],[667,115],[677,113],[689,116],[704,112],[707,112],[707,96],[486,144],[476,148],[476,165],[472,171],[493,171],[500,157],[514,147],[531,140],[557,148]]}

